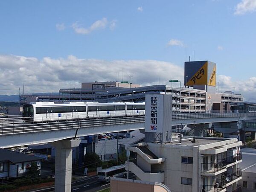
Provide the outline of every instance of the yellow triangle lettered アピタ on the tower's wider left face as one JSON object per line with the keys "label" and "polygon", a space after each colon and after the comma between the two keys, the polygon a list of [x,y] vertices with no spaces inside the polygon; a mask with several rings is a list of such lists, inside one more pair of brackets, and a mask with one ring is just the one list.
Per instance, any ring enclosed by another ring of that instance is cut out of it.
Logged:
{"label": "yellow triangle lettered \u30a2\u30d4\u30bf on the tower's wider left face", "polygon": [[207,62],[201,67],[194,76],[188,81],[188,86],[193,86],[194,84],[207,84]]}

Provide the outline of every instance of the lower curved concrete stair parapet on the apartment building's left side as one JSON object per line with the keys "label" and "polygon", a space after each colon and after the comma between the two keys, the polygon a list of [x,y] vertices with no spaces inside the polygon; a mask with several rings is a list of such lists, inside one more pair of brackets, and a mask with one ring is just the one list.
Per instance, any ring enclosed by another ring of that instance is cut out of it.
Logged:
{"label": "lower curved concrete stair parapet on the apartment building's left side", "polygon": [[156,173],[147,172],[133,162],[129,162],[129,164],[126,162],[125,170],[128,170],[128,169],[130,172],[133,172],[140,180],[145,180],[150,182],[159,182],[159,183],[163,183],[164,181],[164,172],[162,171],[159,171]]}

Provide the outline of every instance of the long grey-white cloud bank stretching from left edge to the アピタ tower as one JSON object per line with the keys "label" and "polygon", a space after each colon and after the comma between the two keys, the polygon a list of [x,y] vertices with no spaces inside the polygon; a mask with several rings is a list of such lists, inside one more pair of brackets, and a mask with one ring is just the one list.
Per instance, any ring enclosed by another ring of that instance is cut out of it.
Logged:
{"label": "long grey-white cloud bank stretching from left edge to the \u30a2\u30d4\u30bf tower", "polygon": [[81,82],[116,81],[124,71],[124,80],[137,84],[165,84],[170,77],[183,79],[183,68],[155,60],[43,58],[0,55],[0,94],[17,94],[25,84],[25,93],[58,92],[60,88],[81,87]]}

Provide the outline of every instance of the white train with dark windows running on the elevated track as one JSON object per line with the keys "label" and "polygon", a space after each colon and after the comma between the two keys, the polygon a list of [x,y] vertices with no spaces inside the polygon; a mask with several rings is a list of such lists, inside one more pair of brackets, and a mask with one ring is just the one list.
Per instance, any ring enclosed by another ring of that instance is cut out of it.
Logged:
{"label": "white train with dark windows running on the elevated track", "polygon": [[35,102],[23,105],[23,118],[42,122],[64,119],[83,119],[90,117],[128,116],[145,113],[145,102]]}

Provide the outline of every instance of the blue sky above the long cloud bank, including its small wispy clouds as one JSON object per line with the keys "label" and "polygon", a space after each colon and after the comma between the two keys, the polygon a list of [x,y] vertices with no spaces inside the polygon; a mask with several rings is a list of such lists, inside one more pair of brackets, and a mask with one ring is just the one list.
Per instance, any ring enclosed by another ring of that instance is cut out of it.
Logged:
{"label": "blue sky above the long cloud bank, including its small wispy clouds", "polygon": [[186,49],[187,59],[195,51],[195,60],[217,63],[218,75],[248,81],[256,69],[255,11],[256,0],[2,0],[0,55],[183,68]]}

